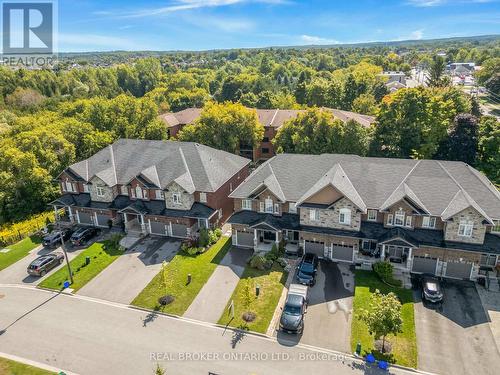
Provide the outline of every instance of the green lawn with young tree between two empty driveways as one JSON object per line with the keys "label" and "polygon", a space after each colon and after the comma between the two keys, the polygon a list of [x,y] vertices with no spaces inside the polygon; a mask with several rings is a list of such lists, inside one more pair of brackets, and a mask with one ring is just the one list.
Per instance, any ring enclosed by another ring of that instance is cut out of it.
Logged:
{"label": "green lawn with young tree between two empty driveways", "polygon": [[[231,238],[221,237],[203,254],[191,256],[179,252],[167,265],[170,279],[168,294],[174,296],[175,300],[164,307],[160,307],[158,304],[158,298],[166,294],[165,289],[161,286],[162,275],[160,272],[135,297],[132,305],[175,315],[184,314],[230,247]],[[192,275],[192,281],[186,285],[189,273]]]}

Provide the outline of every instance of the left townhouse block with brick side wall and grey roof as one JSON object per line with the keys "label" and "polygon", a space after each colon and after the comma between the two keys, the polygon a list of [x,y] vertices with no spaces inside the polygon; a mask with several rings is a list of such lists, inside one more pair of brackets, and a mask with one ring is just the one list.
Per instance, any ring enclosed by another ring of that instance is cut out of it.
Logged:
{"label": "left townhouse block with brick side wall and grey roof", "polygon": [[66,168],[51,205],[69,224],[188,238],[231,215],[249,163],[197,143],[120,139]]}

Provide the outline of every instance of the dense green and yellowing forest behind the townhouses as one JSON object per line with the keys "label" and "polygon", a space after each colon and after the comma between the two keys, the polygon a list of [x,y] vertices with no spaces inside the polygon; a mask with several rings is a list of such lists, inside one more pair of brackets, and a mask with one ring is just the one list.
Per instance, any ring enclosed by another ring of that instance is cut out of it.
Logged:
{"label": "dense green and yellowing forest behind the townhouses", "polygon": [[[444,52],[446,57],[436,57]],[[280,152],[462,160],[500,183],[500,126],[451,87],[449,61],[498,81],[497,37],[335,48],[65,55],[52,70],[0,66],[0,223],[46,209],[54,178],[118,138],[166,139],[158,114],[206,105],[181,140],[228,151],[257,144],[248,108],[310,108],[283,126]],[[389,94],[380,73],[425,67],[428,87]],[[366,129],[319,107],[376,116]],[[220,134],[223,131],[224,137]]]}

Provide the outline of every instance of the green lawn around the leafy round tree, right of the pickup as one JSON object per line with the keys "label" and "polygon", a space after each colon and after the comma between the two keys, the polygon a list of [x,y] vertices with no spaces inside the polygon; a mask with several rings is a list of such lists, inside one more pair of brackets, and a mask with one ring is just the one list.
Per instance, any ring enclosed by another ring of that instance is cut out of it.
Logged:
{"label": "green lawn around the leafy round tree, right of the pickup", "polygon": [[402,366],[417,367],[417,339],[415,336],[415,319],[413,310],[413,292],[410,289],[391,288],[382,283],[374,272],[356,270],[356,289],[353,303],[353,318],[351,331],[351,348],[354,352],[356,344],[361,343],[362,354],[373,350],[374,339],[368,332],[366,324],[357,318],[357,311],[368,308],[370,294],[376,289],[382,293],[394,292],[401,303],[403,317],[403,332],[397,336],[388,336],[387,340],[392,344],[392,353],[383,356],[374,352],[376,358],[385,359]]}

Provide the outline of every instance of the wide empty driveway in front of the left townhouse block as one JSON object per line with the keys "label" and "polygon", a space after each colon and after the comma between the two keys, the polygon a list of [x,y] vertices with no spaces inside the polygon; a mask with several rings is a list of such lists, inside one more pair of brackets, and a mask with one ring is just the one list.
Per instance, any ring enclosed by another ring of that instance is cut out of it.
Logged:
{"label": "wide empty driveway in front of the left townhouse block", "polygon": [[78,291],[88,297],[129,304],[170,261],[181,243],[167,237],[148,236]]}

